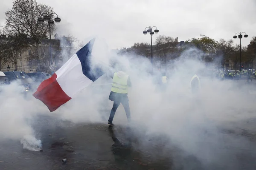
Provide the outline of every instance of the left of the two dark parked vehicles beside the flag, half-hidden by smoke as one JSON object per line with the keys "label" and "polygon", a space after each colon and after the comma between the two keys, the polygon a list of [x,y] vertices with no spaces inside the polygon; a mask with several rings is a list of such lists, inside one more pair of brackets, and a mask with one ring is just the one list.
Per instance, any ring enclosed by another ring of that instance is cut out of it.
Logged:
{"label": "left of the two dark parked vehicles beside the flag, half-hidden by smoke", "polygon": [[4,72],[10,82],[17,81],[19,85],[24,86],[23,92],[28,92],[32,89],[32,79],[24,71],[8,71]]}

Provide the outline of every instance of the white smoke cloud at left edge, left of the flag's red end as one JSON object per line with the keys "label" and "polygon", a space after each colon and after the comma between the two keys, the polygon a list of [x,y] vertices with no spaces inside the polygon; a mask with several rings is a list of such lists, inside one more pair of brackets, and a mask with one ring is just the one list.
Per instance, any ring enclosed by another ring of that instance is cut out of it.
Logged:
{"label": "white smoke cloud at left edge, left of the flag's red end", "polygon": [[[29,150],[38,150],[41,141],[35,139],[34,130],[30,126],[36,113],[47,113],[47,109],[28,96],[24,99],[24,87],[18,82],[1,86],[0,92],[0,142],[8,139],[20,140],[23,147]],[[30,94],[31,95],[31,94]]]}

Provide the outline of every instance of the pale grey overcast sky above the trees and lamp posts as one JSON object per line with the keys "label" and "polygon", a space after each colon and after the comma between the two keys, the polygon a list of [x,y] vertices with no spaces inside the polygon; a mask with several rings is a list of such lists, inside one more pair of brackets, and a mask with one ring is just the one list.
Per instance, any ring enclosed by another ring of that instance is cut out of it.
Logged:
{"label": "pale grey overcast sky above the trees and lamp posts", "polygon": [[[38,0],[52,6],[61,17],[59,34],[79,40],[97,35],[110,48],[130,47],[134,42],[150,43],[144,28],[157,26],[159,33],[179,41],[199,37],[226,40],[236,32],[246,32],[247,45],[256,36],[256,0]],[[0,22],[12,0],[0,0]],[[234,42],[239,43],[239,39]]]}

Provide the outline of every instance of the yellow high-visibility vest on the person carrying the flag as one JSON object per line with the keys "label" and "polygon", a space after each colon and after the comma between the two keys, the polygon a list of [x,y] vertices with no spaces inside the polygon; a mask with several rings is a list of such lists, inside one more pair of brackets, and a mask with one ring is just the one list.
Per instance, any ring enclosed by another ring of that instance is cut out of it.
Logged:
{"label": "yellow high-visibility vest on the person carrying the flag", "polygon": [[120,93],[120,94],[128,93],[128,86],[127,86],[128,77],[129,76],[127,74],[123,75],[122,77],[118,77],[117,73],[115,73],[113,76],[111,91]]}

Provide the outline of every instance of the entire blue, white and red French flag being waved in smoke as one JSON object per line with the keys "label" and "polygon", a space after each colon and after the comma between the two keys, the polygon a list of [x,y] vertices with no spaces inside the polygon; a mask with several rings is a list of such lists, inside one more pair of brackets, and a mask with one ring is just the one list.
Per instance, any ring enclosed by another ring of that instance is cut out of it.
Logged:
{"label": "entire blue, white and red French flag being waved in smoke", "polygon": [[95,39],[90,40],[77,51],[52,77],[41,82],[33,94],[49,108],[49,111],[58,109],[104,74],[100,67],[91,64],[94,42]]}

